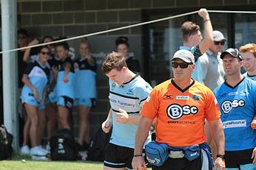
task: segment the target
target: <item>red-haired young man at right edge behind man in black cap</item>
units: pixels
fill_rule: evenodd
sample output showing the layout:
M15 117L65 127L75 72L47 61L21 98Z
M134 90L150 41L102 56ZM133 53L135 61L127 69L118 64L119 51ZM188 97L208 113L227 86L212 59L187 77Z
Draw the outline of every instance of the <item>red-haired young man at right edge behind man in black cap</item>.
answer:
M256 44L247 43L240 46L239 51L243 56L243 68L246 70L243 76L256 81Z

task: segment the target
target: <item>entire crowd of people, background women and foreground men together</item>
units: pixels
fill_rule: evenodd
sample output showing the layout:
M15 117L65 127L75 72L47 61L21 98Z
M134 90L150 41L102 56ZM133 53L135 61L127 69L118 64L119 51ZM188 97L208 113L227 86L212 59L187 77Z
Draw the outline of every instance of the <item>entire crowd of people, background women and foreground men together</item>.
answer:
M110 111L101 125L112 133L105 170L141 170L148 163L155 170L256 169L256 131L251 127L256 113L256 45L223 51L223 33L212 29L206 9L198 15L204 35L192 21L182 24L183 44L170 60L173 77L155 88L141 77L138 60L129 56L128 38L115 40L116 52L107 54L101 65L110 87ZM25 29L18 29L18 47L40 43L28 38ZM42 43L53 40L46 36ZM88 149L97 64L87 40L81 40L78 49L76 60L66 41L18 51L21 154L46 155L49 145L48 150L41 146L45 128L48 141L58 127L72 130L73 107L78 112L77 149ZM164 146L167 153L149 156L149 144L154 149ZM155 163L158 156L161 165Z

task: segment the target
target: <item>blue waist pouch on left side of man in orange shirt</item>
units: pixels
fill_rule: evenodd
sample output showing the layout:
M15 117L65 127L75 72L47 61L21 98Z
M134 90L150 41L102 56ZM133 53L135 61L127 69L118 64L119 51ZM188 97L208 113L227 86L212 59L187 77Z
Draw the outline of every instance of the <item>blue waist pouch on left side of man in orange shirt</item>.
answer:
M169 146L151 141L145 146L146 158L153 166L162 166L169 157Z

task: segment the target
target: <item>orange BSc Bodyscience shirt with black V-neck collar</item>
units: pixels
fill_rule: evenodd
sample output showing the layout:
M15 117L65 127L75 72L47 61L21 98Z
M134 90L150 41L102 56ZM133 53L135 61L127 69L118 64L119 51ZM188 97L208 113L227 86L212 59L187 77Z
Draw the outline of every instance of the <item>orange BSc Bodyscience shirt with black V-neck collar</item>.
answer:
M199 82L181 89L173 80L157 85L142 107L146 118L157 118L156 141L169 146L192 146L206 142L205 118L220 118L218 102L212 91Z

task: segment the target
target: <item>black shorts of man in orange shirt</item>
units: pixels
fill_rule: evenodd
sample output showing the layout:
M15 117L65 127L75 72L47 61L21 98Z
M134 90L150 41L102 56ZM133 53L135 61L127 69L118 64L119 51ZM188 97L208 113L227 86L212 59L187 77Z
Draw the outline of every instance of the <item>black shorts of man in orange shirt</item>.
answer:
M152 166L153 170L201 170L202 159L201 154L195 160L189 161L183 158L171 158L165 161L163 166Z

